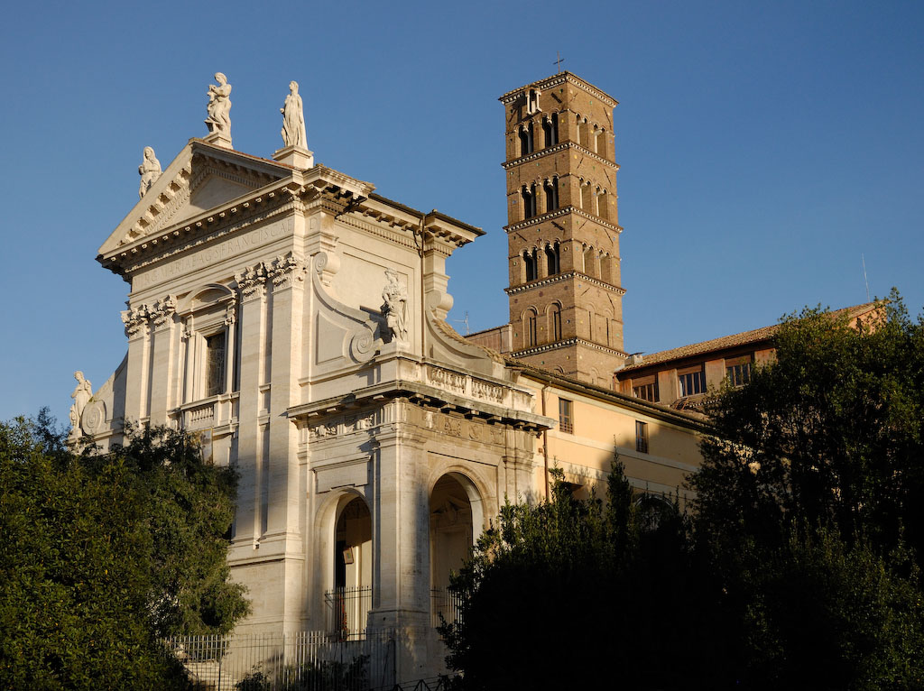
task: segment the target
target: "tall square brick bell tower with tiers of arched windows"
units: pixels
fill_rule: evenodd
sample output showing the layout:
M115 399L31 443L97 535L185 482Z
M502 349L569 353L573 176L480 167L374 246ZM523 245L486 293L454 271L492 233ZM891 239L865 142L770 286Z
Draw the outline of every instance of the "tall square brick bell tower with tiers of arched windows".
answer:
M612 388L626 359L616 101L570 72L508 91L500 101L511 354Z

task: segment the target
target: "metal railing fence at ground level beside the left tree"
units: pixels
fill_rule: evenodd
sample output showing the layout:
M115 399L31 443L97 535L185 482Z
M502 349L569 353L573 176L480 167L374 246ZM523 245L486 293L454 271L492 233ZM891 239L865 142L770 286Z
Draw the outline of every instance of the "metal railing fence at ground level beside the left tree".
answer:
M192 681L213 691L365 691L395 685L395 632L344 640L321 631L164 639Z

